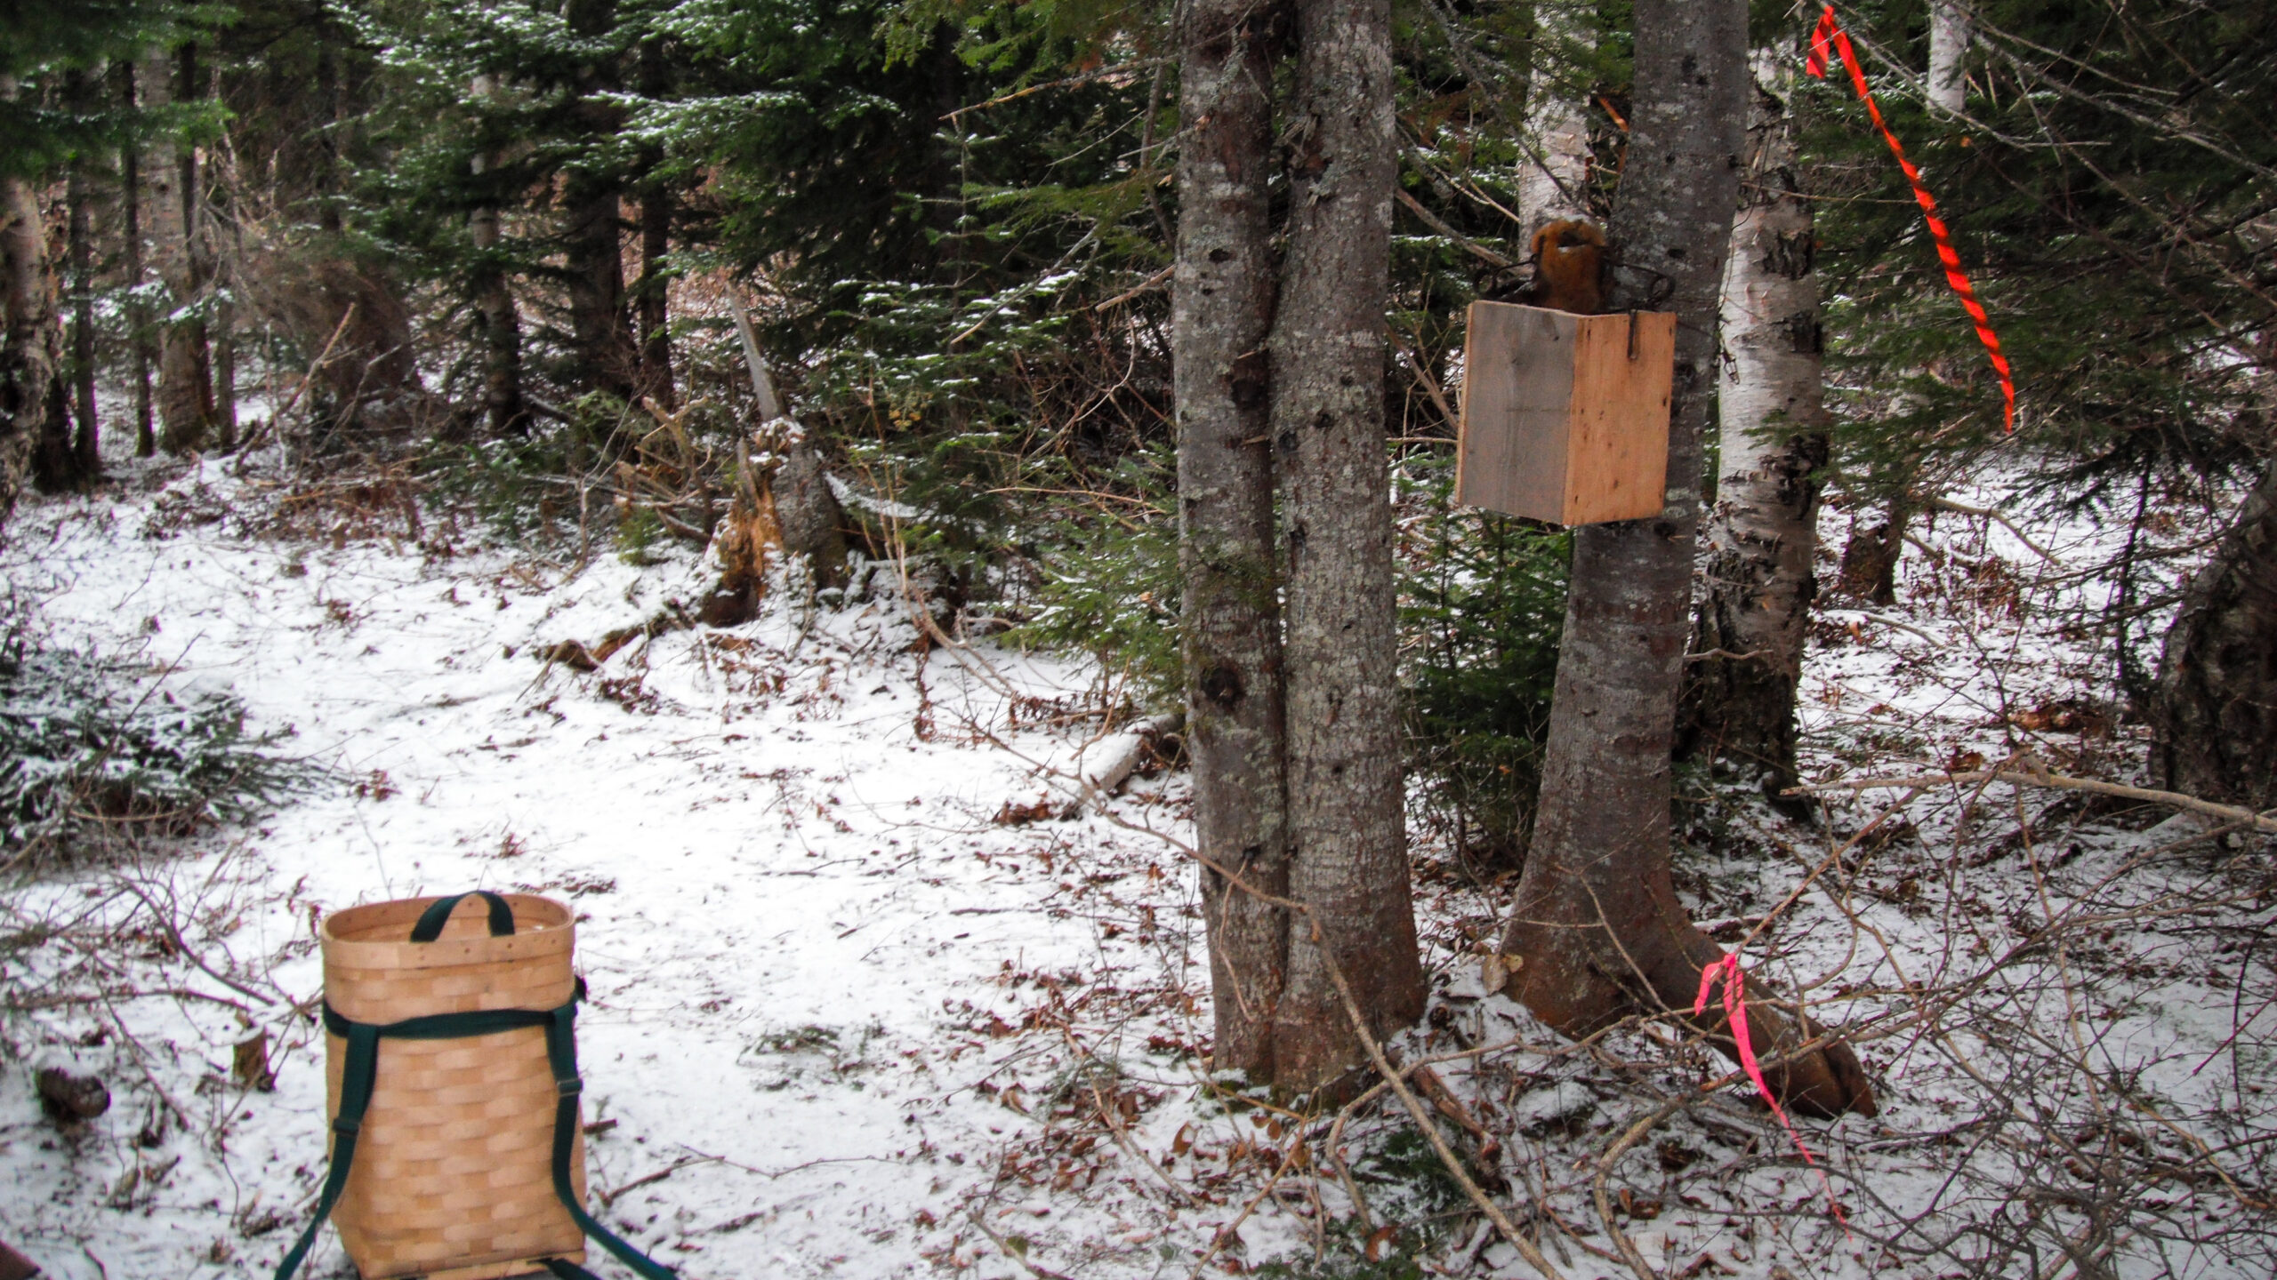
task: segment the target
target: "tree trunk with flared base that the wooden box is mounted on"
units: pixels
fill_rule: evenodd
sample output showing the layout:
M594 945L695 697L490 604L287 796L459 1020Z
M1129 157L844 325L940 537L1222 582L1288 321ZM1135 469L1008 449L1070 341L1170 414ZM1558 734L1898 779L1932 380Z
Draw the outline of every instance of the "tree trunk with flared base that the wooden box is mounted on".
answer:
M1635 107L1612 216L1612 307L1674 310L1676 383L1667 508L1573 535L1564 647L1551 704L1542 806L1503 950L1510 993L1567 1034L1626 1014L1690 1009L1721 947L1685 916L1669 877L1669 747L1692 604L1701 428L1715 317L1746 125L1744 0L1639 0ZM1751 984L1765 1057L1801 1043ZM1721 1016L1705 1020L1726 1052ZM1808 1032L1803 1027L1801 1032ZM1872 1111L1844 1045L1769 1070L1808 1114Z

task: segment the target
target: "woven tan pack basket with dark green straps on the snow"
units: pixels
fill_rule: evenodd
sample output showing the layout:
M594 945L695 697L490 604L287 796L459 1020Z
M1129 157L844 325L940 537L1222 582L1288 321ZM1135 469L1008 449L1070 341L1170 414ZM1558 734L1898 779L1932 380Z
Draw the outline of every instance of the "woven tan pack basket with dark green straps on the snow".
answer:
M412 897L321 934L332 1166L278 1280L326 1216L364 1280L585 1275L587 1234L672 1275L585 1212L567 906Z

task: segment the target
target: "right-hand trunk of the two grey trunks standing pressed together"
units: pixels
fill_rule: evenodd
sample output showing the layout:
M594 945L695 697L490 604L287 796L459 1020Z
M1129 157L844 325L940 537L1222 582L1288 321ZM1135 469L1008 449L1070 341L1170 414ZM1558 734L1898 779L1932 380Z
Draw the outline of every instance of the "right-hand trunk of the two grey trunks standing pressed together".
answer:
M1296 5L1289 228L1266 339L1287 531L1289 897L1378 1029L1423 1016L1400 793L1384 460L1396 171L1391 0ZM1289 932L1275 1082L1316 1089L1364 1050L1307 927Z

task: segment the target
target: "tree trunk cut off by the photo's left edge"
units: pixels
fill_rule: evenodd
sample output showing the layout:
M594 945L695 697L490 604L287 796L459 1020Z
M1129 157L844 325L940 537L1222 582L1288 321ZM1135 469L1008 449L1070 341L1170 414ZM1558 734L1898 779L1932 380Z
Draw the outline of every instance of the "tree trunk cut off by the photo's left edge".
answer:
M0 73L0 100L16 100L16 77ZM55 383L55 278L39 194L23 178L0 178L0 533L48 430Z

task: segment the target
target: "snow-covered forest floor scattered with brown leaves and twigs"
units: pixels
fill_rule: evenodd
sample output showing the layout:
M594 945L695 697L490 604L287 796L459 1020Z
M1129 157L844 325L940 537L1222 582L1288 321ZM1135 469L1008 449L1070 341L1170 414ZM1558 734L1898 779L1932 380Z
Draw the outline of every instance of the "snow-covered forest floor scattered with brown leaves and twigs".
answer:
M0 1234L50 1273L266 1273L321 1178L314 920L512 888L578 911L597 1212L683 1275L1530 1275L1403 1116L1330 1152L1330 1118L1211 1086L1184 781L1061 818L1057 777L1109 729L1082 663L922 645L879 567L849 608L779 588L749 626L576 672L542 656L692 599L701 569L483 549L353 478L123 469L27 503L7 581L68 645L235 688L332 781L180 856L9 888L0 963L30 998ZM2036 531L2058 567L1951 515L1924 540L1942 563L1908 556L1901 606L1822 615L1808 772L2029 747L2127 777L2109 658L2047 613L2109 538ZM1863 1027L1883 1114L1803 1125L1822 1184L1742 1089L1692 1100L1614 1162L1612 1221L1671 1275L2270 1275L2266 872L2047 793L1965 799L1847 850L1881 799L1710 822L1680 877L1728 938L1824 863L1746 961ZM123 886L173 904L187 954L75 947L139 902ZM1660 1029L1576 1052L1482 998L1498 904L1419 850L1441 1000L1405 1052L1457 1055L1439 1073L1503 1134L1498 1193L1562 1273L1628 1275L1598 1155L1728 1066ZM257 1032L273 1091L232 1080ZM43 1064L100 1075L112 1109L59 1134ZM312 1273L351 1273L330 1234Z

